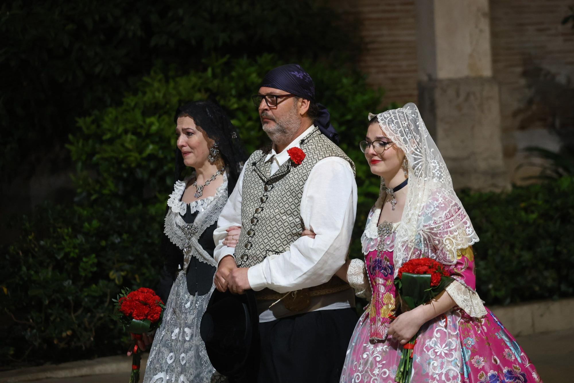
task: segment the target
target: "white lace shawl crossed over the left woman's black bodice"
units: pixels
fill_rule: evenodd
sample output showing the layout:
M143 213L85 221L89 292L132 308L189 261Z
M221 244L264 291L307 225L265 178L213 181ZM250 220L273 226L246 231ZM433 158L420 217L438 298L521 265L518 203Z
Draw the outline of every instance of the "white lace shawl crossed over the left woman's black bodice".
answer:
M192 202L192 213L199 211L193 224L185 223L186 202L180 201L185 191L185 182L177 181L168 200L168 213L164 220L164 233L169 240L184 253L184 270L187 270L191 257L217 267L215 259L197 242L201 234L214 224L227 202L227 176L223 174L223 183L218 187L215 196ZM192 206L193 205L193 206ZM195 209L195 210L194 210Z

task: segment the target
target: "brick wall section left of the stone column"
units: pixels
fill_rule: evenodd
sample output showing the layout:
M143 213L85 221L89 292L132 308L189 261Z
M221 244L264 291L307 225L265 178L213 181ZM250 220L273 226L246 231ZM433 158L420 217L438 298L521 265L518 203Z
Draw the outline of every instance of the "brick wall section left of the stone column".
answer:
M359 66L370 85L385 89L383 104L417 101L414 1L329 0L343 18L358 20L363 40Z

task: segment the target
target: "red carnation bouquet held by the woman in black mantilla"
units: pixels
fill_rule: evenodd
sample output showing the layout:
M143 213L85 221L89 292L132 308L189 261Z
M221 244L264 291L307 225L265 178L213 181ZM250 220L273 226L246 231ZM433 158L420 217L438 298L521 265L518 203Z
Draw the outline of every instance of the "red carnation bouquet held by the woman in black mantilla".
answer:
M130 383L137 383L142 359L137 341L142 339L145 332L160 327L165 305L152 289L146 288L135 291L122 289L122 293L113 301L115 308L111 317L122 324L123 330L129 331L133 338L133 344L130 346L130 349L133 349Z

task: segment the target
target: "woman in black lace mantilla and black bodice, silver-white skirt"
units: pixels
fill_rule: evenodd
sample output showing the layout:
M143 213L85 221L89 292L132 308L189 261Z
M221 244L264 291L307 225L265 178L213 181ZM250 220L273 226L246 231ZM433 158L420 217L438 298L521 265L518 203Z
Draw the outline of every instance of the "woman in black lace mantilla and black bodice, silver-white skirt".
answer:
M246 156L220 106L199 101L177 109L176 181L165 216L164 269L158 294L166 309L146 366L145 383L215 382L199 335L214 290L213 231ZM194 169L179 181L184 166Z

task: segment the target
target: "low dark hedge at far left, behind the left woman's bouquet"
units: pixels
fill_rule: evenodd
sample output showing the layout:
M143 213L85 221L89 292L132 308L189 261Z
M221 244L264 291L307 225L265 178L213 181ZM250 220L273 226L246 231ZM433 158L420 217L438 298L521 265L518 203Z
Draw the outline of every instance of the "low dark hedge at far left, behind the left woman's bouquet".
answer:
M110 201L23 217L21 236L0 252L1 365L125 351L111 299L123 285L156 285L163 212Z

